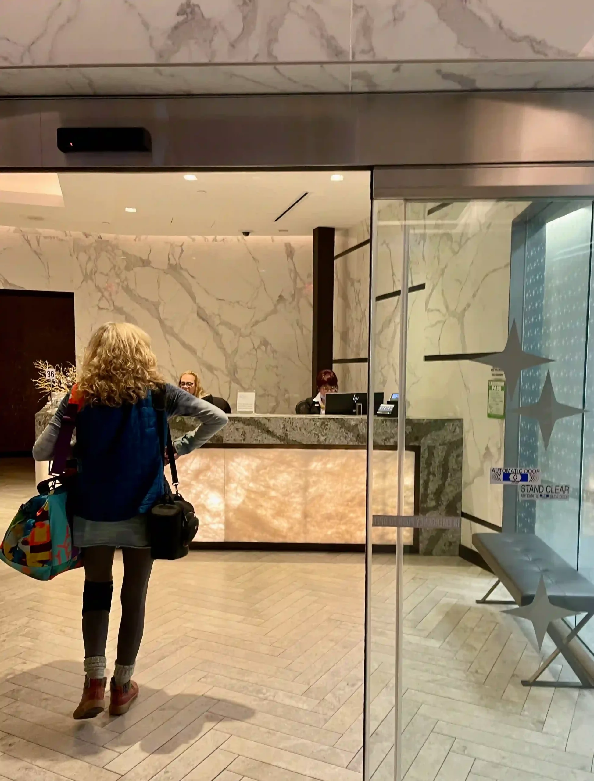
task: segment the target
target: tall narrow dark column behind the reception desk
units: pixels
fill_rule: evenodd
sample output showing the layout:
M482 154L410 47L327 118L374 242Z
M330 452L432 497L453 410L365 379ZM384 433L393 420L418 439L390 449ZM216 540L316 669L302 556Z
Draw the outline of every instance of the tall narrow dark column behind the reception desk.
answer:
M314 228L313 319L311 323L311 390L315 377L332 369L334 335L334 228Z

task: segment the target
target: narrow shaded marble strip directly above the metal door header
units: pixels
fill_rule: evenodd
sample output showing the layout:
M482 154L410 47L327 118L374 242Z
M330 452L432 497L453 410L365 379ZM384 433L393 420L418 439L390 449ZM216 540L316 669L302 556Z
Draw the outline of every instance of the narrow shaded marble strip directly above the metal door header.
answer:
M592 59L0 66L0 96L22 97L504 91L592 87Z

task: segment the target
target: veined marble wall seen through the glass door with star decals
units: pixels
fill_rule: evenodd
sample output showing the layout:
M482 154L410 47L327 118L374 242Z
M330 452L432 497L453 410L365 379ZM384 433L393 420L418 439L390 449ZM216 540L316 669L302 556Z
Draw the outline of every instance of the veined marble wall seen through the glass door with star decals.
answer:
M425 355L502 350L507 339L511 222L525 204L472 201L436 213L411 233L425 263ZM418 294L415 294L418 295ZM410 349L410 348L409 348ZM503 421L487 418L490 369L468 361L411 362L421 380L410 414L464 419L462 508L501 525L503 495L489 469L503 465ZM414 376L414 375L413 375ZM411 378L412 380L412 378ZM445 389L446 392L443 392Z

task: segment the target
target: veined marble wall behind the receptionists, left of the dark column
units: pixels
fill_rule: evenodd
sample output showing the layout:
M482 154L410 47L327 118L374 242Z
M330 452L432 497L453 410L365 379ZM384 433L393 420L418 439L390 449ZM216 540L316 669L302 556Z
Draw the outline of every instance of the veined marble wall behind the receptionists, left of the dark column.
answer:
M293 412L311 373L310 237L133 237L0 228L0 286L74 291L76 349L108 320L235 404ZM41 358L43 356L40 356Z

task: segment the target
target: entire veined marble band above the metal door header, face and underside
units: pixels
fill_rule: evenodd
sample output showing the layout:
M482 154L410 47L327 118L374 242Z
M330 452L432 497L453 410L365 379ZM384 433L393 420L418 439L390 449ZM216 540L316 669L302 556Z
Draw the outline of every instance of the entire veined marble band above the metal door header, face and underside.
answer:
M16 2L0 6L0 68L68 66L7 71L0 84L8 95L585 87L593 56L590 0L28 0L27 12ZM493 61L493 69L480 61ZM553 67L541 68L544 62ZM208 71L168 70L197 64ZM261 71L234 70L246 65ZM284 65L294 68L276 68Z

